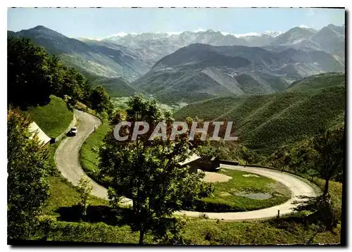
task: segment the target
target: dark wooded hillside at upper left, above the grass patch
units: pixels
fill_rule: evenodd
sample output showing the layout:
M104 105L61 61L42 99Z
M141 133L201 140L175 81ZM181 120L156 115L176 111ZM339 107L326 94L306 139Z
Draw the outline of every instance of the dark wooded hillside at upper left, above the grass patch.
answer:
M30 39L8 36L8 104L27 110L46 105L52 94L73 106L84 103L99 113L112 108L103 87L92 87L77 70Z

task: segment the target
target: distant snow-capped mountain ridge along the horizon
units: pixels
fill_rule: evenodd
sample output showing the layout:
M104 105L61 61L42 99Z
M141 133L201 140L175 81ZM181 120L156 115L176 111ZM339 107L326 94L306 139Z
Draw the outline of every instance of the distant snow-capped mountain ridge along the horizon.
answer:
M166 32L146 32L142 34L112 35L101 41L130 46L134 49L145 49L149 53L158 49L161 54L168 55L176 49L189 44L210 44L212 46L290 46L296 49L313 49L341 55L344 52L343 26L327 25L320 30L308 27L293 27L287 32L263 32L262 34L249 33L235 36L225 32L206 30L201 32L181 32L168 34ZM253 35L251 35L253 34ZM324 42L328 40L329 43ZM156 57L158 58L158 57ZM160 59L160 58L159 58Z

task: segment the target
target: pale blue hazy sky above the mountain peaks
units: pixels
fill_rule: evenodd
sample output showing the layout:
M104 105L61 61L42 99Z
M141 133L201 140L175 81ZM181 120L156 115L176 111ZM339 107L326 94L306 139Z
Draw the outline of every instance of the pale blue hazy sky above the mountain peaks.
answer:
M44 25L68 37L106 37L119 32L212 29L233 34L315 29L345 23L344 9L328 8L9 8L8 30Z

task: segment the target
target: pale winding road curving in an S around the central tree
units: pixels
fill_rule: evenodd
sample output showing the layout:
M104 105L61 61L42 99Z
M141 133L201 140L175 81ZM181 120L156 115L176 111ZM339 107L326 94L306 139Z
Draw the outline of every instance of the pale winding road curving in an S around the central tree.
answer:
M77 135L75 137L67 137L58 146L55 153L56 166L60 170L61 175L68 179L73 185L77 186L78 181L81 177L87 177L92 184L93 190L92 195L108 199L107 189L101 185L94 182L93 179L89 178L80 165L80 148L84 141L89 137L89 134L94 132L94 127L99 127L101 121L94 115L89 113L84 113L82 111L74 111L75 117L78 120L77 125ZM279 210L280 215L285 215L292 212L292 202L295 201L297 196L315 196L316 190L310 184L299 179L298 177L291 175L287 172L279 172L277 170L271 170L267 168L256 168L256 167L244 167L241 165L225 165L221 164L221 168L226 168L230 170L242 170L246 172L251 172L253 174L258 174L264 177L270 177L275 179L277 182L284 184L291 191L291 199L289 201L282 203L277 206L272 206L270 208L264 208L260 210L253 210L248 212L237 212L237 213L206 213L210 219L220 219L220 220L256 220L256 219L266 219L277 216L277 210ZM123 204L131 204L130 199L122 199ZM204 213L193 212L193 211L180 211L176 213L177 215L187 215L189 217L199 217Z

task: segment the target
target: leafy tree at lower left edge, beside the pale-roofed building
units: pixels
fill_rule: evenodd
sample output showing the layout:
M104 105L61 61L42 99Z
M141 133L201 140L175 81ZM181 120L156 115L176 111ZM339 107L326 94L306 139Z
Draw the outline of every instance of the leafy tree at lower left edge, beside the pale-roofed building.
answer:
M29 239L37 228L37 215L49 197L46 179L48 149L37 137L30 139L30 120L18 109L7 113L8 238Z

